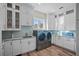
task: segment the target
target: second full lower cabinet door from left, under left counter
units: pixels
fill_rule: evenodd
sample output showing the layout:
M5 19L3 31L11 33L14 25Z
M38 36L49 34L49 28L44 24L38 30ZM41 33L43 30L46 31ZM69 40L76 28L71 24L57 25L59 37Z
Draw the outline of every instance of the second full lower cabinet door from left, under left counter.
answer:
M20 42L21 42L20 40L12 41L13 55L18 55L21 53L21 43Z

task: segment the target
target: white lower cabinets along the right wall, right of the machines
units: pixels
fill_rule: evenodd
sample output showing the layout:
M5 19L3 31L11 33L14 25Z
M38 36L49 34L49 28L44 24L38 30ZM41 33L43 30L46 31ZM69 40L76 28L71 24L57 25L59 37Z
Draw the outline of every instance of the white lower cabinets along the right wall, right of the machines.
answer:
M71 39L71 38L66 38L66 37L56 37L56 39L54 40L54 44L60 46L60 47L63 47L63 48L66 48L66 49L69 49L71 51L74 51L76 50L75 48L75 40L74 39Z

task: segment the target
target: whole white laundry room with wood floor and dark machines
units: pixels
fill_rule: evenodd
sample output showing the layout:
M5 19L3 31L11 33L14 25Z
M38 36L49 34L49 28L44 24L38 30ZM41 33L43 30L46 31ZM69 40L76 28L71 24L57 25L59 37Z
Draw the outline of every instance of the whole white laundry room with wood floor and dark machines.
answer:
M79 3L0 3L0 56L79 56Z

